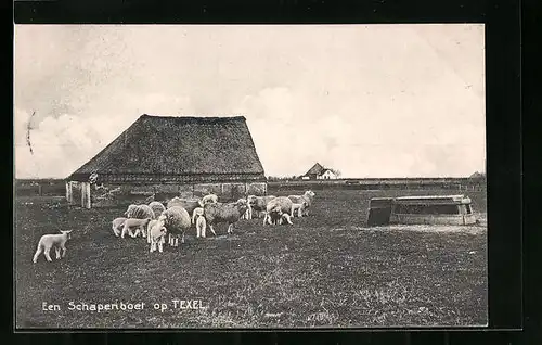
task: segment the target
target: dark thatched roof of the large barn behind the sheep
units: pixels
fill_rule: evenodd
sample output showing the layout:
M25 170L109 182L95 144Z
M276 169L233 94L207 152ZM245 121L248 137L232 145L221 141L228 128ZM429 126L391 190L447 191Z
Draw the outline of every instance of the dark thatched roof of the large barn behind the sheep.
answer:
M70 180L89 176L246 175L264 178L244 116L140 116Z

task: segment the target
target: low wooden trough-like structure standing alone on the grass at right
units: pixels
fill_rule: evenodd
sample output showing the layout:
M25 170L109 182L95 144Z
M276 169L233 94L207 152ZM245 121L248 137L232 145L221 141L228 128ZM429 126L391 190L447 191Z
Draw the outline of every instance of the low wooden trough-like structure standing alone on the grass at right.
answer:
M470 199L464 195L373 197L367 226L476 223Z

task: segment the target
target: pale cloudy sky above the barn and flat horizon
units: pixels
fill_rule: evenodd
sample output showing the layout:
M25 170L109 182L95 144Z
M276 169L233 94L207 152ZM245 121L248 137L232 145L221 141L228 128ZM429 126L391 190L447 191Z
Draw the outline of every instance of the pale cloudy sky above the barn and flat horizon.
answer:
M142 114L243 115L267 176L467 177L485 170L483 31L15 25L15 177L65 178Z

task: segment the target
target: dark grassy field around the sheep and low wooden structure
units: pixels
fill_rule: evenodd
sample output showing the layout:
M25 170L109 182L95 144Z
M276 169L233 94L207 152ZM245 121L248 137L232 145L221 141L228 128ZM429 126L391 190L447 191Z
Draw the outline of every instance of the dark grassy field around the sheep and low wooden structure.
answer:
M274 195L296 191L272 190ZM369 197L453 191L318 191L295 225L261 219L195 230L149 253L120 240L124 208L68 208L62 197L15 201L17 328L464 327L487 322L487 228L365 228ZM469 192L485 219L486 196ZM31 263L39 238L73 229L67 256ZM173 308L201 299L203 309ZM145 303L142 310L68 310L75 303ZM42 304L61 310L44 311ZM155 310L154 304L168 308Z

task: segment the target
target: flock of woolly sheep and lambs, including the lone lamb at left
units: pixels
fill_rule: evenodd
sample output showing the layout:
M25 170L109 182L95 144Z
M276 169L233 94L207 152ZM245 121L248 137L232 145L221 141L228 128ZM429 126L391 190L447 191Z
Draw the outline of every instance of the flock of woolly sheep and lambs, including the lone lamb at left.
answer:
M164 251L166 235L170 246L184 243L184 233L193 226L196 228L196 237L205 238L206 228L209 227L214 235L215 225L228 223L228 233L233 232L233 225L241 219L261 218L263 226L293 225L292 218L309 215L314 192L306 191L302 195L288 196L255 196L240 199L233 203L221 203L215 194L208 194L198 200L186 200L178 196L171 199L166 206L153 201L150 204L130 205L125 212L125 217L115 218L112 228L115 235L125 238L146 238L150 252ZM191 216L192 215L192 216ZM44 234L40 238L33 261L36 263L39 255L43 254L51 261L50 251L54 247L56 259L66 255L66 241L70 238L70 231L61 231L55 234Z

